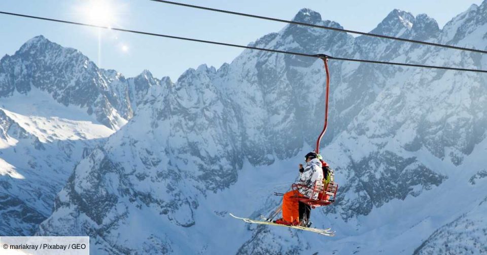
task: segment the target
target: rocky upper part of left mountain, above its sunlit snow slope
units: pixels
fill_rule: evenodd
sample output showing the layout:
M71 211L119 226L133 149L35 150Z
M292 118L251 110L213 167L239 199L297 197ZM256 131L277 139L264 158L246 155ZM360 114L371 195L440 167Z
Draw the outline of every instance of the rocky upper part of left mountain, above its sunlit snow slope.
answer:
M148 88L158 84L149 71L126 79L114 70L99 69L78 50L61 47L42 35L0 61L0 98L29 94L36 88L65 106L86 109L114 130L133 116Z

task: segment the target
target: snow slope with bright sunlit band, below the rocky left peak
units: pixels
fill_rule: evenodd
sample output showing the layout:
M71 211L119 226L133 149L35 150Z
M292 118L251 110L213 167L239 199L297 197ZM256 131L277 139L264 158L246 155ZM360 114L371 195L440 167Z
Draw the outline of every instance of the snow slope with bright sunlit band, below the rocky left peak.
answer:
M83 109L46 92L0 101L0 233L31 235L83 155L113 134Z

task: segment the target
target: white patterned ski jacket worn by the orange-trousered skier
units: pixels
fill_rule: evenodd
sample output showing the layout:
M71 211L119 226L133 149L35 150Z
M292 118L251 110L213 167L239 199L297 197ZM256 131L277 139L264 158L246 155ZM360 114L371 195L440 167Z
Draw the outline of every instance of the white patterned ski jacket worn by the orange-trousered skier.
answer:
M311 195L313 193L313 189L315 188L316 180L323 180L323 169L321 166L321 161L318 158L314 158L309 162L306 162L303 173L299 172L298 184L304 185L309 189L300 188L299 193L312 199L318 199L318 193L314 194L313 197L311 197Z

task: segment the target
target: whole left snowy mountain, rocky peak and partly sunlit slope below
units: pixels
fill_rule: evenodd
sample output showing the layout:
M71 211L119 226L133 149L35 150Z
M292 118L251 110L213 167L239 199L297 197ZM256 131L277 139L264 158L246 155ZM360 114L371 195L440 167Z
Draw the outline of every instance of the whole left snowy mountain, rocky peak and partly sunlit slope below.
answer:
M98 69L43 36L3 57L0 234L36 232L74 166L125 124L159 82L148 71L125 79Z

